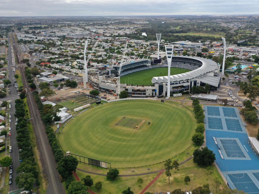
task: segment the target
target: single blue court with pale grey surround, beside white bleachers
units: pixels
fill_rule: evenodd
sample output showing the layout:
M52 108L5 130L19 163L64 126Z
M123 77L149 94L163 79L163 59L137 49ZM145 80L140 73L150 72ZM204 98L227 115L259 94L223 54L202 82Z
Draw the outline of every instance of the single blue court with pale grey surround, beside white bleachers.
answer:
M235 139L220 139L220 143L229 158L246 158L241 147Z

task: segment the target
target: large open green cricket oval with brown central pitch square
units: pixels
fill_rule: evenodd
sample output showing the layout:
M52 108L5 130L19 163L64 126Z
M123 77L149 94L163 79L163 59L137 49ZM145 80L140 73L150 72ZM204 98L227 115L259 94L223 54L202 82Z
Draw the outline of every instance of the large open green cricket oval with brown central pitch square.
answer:
M140 166L185 150L195 128L194 116L182 107L125 100L77 115L62 130L60 144L65 151L110 162L113 167Z

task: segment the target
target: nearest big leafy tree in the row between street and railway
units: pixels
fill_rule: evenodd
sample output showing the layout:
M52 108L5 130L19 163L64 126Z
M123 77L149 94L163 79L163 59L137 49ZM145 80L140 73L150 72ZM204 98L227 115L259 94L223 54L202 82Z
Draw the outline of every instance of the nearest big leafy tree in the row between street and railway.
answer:
M15 179L19 188L24 188L24 190L29 191L33 189L35 181L36 178L33 177L32 173L20 173Z

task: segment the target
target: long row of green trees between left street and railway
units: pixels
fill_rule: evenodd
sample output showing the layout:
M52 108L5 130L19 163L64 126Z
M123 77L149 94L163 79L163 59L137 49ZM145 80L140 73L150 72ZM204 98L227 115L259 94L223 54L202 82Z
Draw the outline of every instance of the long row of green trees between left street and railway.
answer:
M22 159L21 164L16 169L17 177L15 179L19 188L25 190L32 190L34 185L40 185L38 180L37 163L34 160L34 154L32 150L30 132L28 131L28 121L25 118L24 101L21 99L15 100L15 117L18 118L16 125L16 141L19 149L19 157Z

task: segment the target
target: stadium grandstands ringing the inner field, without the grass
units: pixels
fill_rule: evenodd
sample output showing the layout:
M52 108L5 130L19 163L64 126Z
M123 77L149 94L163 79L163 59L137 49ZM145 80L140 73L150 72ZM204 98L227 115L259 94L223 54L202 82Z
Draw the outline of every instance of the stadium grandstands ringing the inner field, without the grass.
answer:
M161 64L151 65L150 59L140 59L137 61L126 62L122 66L120 76L145 71L153 68L168 68L167 61ZM192 56L173 56L171 67L191 70L186 73L170 76L170 93L189 92L193 86L209 84L211 88L217 90L220 85L219 65L210 59ZM119 65L113 66L114 71L107 70L103 76L90 76L90 83L100 92L117 93L116 77L118 77ZM111 76L110 74L113 74ZM153 85L139 86L121 84L121 91L126 90L132 97L155 97L166 96L167 76L153 77Z

